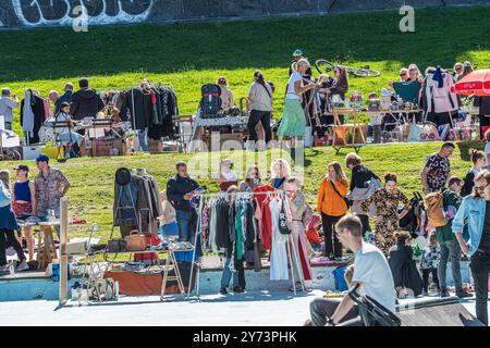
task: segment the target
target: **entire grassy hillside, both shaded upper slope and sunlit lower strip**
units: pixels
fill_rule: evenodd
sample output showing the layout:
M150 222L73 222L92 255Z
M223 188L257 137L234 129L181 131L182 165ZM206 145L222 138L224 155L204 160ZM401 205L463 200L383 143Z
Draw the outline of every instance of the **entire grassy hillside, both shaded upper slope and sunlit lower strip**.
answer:
M343 14L322 17L277 18L232 23L140 25L90 27L88 33L71 28L0 32L0 86L19 96L26 87L47 95L61 90L66 80L89 76L95 88L128 87L148 77L173 84L182 114L195 112L200 86L220 75L228 77L235 99L247 94L253 72L261 69L279 91L287 80L291 53L302 48L314 61L338 60L348 55L348 65L369 64L381 71L377 78L351 78L351 89L365 95L379 90L397 78L401 66L417 63L421 70L440 64L452 67L455 61L470 60L476 66L490 64L490 7L449 8L416 11L416 33L399 30L397 12ZM275 98L275 116L282 111L282 96ZM14 129L20 129L19 123ZM481 142L473 145L482 148ZM367 147L360 151L365 163L378 174L396 172L402 189L412 196L420 190L419 171L429 153L440 144ZM469 169L467 144L460 144L452 159L453 172L464 175ZM223 153L235 163L245 152ZM315 201L319 179L333 160L343 163L346 150L335 156L331 148L306 150L305 189ZM147 167L163 189L174 173L177 160L209 164L216 154L161 154L112 159L77 159L54 164L72 182L69 192L71 215L100 225L107 238L112 221L113 174L120 166ZM267 158L261 158L267 156ZM277 153L257 154L255 161L268 167ZM34 166L34 163L27 163ZM13 163L2 162L1 169ZM244 165L246 166L246 165ZM213 173L216 166L208 165ZM199 178L209 190L216 184ZM89 226L73 226L71 235L86 235Z

